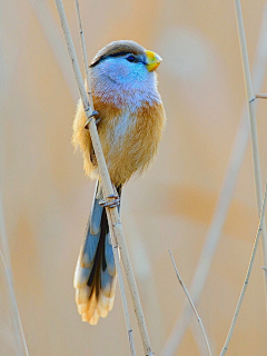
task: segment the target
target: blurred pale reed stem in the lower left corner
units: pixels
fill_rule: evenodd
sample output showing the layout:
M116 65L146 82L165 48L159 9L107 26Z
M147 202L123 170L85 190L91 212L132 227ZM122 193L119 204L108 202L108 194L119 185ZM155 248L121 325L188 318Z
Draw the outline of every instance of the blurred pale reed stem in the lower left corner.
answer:
M2 207L2 197L0 191L0 247L2 245L2 250L0 250L0 260L3 264L3 270L6 271L8 289L11 299L11 314L12 323L14 328L14 337L17 344L17 352L19 356L29 356L26 337L23 333L23 327L20 319L19 308L17 305L14 289L13 289L13 278L12 278L12 268L9 254L8 236L6 230L4 217L3 217L3 207Z

